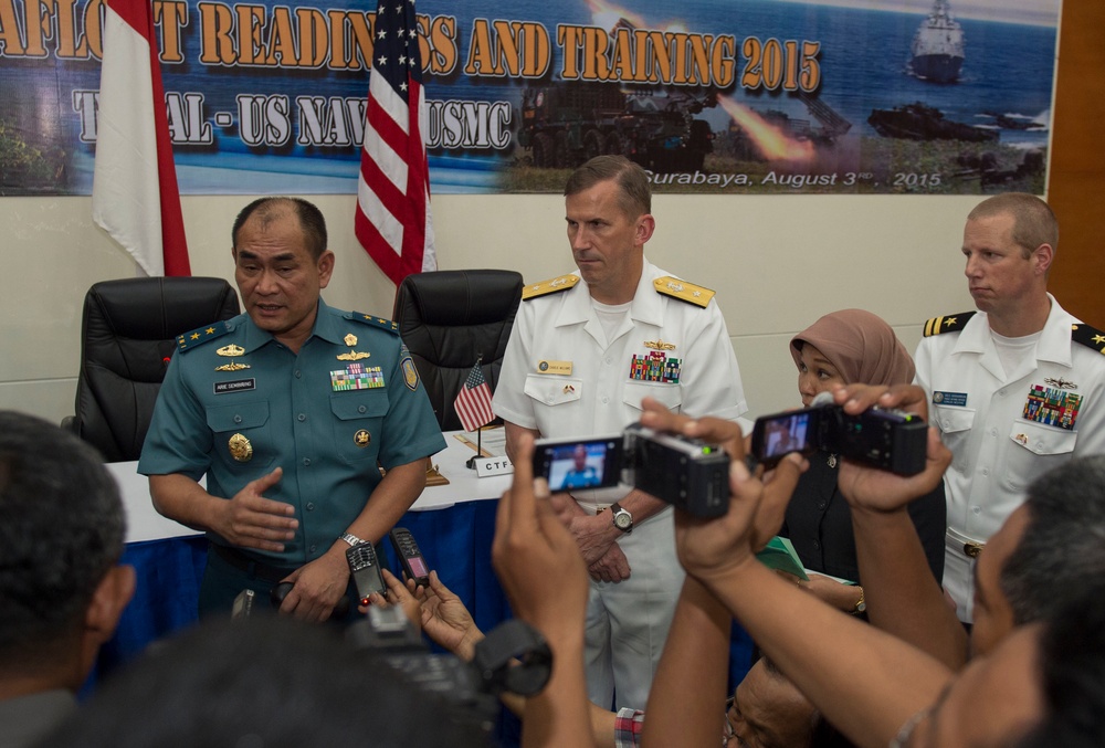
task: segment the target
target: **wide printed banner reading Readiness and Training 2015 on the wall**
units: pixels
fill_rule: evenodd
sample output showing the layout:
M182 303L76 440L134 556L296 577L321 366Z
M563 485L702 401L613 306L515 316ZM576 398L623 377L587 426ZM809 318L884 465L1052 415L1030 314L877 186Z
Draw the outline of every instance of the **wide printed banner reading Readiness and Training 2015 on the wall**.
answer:
M325 1L325 0L324 0ZM376 15L152 0L185 194L354 193ZM431 191L1042 193L1060 0L421 0ZM0 194L87 194L102 0L0 0Z

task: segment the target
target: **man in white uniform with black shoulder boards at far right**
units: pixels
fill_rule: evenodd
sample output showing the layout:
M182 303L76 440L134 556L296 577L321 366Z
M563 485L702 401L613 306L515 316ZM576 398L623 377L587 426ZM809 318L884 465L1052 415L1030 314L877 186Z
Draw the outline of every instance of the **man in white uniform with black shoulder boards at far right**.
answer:
M945 474L944 583L974 620L974 566L1033 478L1105 452L1105 336L1048 293L1059 225L1031 194L979 203L962 252L978 312L929 319L917 383L955 460Z

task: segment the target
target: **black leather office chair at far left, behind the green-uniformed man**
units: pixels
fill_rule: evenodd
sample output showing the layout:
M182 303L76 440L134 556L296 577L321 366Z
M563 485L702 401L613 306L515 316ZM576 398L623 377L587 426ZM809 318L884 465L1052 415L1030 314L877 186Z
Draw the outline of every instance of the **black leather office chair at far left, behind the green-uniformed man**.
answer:
M62 425L106 462L137 460L176 337L239 313L222 278L102 281L84 298L76 414Z

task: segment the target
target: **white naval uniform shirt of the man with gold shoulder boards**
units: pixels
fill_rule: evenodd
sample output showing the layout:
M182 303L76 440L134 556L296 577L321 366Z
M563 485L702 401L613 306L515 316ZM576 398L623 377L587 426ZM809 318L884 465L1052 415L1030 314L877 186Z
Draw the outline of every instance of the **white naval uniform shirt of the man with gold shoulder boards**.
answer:
M674 412L736 420L746 410L740 371L725 319L711 299L703 308L656 292L667 275L644 263L632 306L609 343L591 306L587 282L569 291L523 302L503 359L494 410L544 438L617 434L641 418L652 397ZM653 352L646 343L673 344L662 351L681 359L678 383L630 378L633 356ZM571 373L541 373L540 361L567 361ZM573 491L585 507L604 506L629 489Z

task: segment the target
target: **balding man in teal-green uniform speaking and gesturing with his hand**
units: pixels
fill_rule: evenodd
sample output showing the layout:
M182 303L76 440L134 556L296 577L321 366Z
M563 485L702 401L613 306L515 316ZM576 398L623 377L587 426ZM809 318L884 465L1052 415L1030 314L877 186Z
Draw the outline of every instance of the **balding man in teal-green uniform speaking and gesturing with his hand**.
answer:
M314 204L256 200L232 238L245 314L180 336L138 471L159 513L208 534L201 613L290 581L281 611L325 620L346 549L402 517L445 444L394 323L322 301Z

